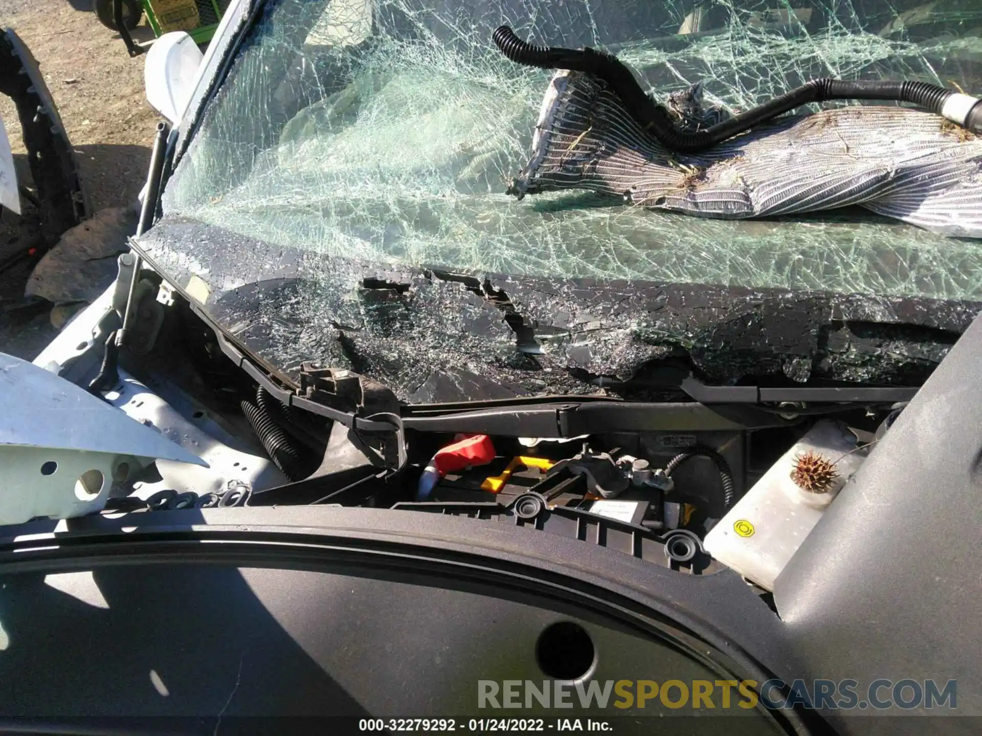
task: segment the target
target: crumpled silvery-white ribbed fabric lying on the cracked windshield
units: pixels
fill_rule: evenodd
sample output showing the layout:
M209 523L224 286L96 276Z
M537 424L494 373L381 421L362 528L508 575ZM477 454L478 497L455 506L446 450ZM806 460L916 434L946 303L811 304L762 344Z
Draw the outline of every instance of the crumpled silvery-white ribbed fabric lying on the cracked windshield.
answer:
M606 83L550 82L519 197L589 189L629 204L718 219L861 205L953 237L982 237L982 139L943 118L867 106L779 118L697 155L635 122Z

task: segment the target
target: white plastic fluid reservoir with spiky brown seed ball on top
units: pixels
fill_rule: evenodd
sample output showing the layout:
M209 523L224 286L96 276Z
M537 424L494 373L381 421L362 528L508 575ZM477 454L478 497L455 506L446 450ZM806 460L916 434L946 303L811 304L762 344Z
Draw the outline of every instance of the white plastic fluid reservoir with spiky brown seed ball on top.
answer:
M845 424L817 422L710 530L706 552L773 591L775 579L862 464L865 452L856 450L856 437ZM834 477L828 473L830 463L835 463ZM799 483L810 483L814 490Z

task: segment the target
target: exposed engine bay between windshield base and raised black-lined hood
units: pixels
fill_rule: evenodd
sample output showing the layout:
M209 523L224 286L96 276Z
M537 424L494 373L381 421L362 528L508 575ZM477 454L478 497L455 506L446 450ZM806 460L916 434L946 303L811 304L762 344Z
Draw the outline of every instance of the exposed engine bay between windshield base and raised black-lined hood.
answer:
M549 426L535 417L551 404L411 407L401 415L384 387L315 364L302 367L300 387L284 391L157 281L143 284L142 323L152 329L136 349L112 348L109 310L94 327L70 326L65 340L90 330L91 344L110 348L88 355L87 368L82 350L59 372L207 467L130 463L103 489L94 508L103 513L329 504L467 517L686 575L733 568L766 599L904 405L786 401L765 407L765 421L741 423L722 404L595 401L579 411L598 411L565 422L579 428L573 432L564 431L562 411L576 405L556 404L556 431L524 437L518 428ZM357 418L307 410L320 406L310 399L355 406ZM665 416L638 422L599 411L612 405Z

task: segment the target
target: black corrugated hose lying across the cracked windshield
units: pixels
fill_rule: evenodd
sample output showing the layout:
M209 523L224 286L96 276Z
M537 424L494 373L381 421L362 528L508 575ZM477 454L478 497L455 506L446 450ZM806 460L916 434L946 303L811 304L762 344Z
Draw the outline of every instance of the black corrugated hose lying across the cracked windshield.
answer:
M810 102L826 100L892 100L909 102L930 112L944 115L957 125L982 133L982 102L954 89L923 81L880 81L812 79L780 97L702 131L680 130L672 115L649 97L627 66L616 56L592 48L582 50L533 46L518 38L509 26L500 26L492 39L508 59L526 67L567 69L586 72L603 79L621 98L631 116L666 147L683 153L710 148L749 131L779 115ZM945 110L945 103L958 95L957 104Z

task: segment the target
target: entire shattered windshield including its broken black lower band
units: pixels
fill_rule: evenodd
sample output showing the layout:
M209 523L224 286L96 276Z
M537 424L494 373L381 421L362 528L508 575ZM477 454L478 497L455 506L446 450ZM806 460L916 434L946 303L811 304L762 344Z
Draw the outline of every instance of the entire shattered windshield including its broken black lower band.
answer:
M268 0L144 254L283 380L318 361L410 404L684 400L677 369L916 386L977 314L982 240L858 207L714 220L508 194L555 73L502 56L503 24L616 53L672 104L701 82L706 116L819 77L982 91L976 0ZM936 124L927 144L955 139L977 166L982 140ZM689 176L669 158L651 163Z

